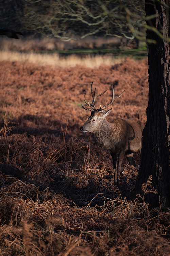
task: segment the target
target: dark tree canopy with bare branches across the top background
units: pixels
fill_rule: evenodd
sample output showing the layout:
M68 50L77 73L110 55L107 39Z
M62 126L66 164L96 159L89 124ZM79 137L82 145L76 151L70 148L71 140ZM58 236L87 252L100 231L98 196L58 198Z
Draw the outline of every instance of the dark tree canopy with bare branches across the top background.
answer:
M166 2L166 1L165 1ZM145 0L0 0L1 27L32 31L63 41L79 40L90 35L117 36L146 41L146 29L160 38L152 21L159 16L145 14ZM168 9L168 4L151 0ZM154 7L155 8L155 7ZM146 23L147 22L147 23ZM148 43L156 43L147 38Z

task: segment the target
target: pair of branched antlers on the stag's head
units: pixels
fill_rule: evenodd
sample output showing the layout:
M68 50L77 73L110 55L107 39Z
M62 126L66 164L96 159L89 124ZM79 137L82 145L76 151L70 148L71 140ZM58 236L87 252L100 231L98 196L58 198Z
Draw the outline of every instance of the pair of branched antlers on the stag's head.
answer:
M84 101L85 101L86 105L89 106L90 108L92 108L92 110L94 110L94 111L102 111L102 110L108 108L109 106L112 105L112 103L115 101L115 99L119 98L119 97L124 93L124 91L125 91L125 90L124 90L121 94L119 94L118 96L116 96L116 95L115 95L115 89L114 89L114 86L113 86L113 84L112 84L112 100L111 100L111 102L110 102L107 106L101 107L101 105L100 105L100 108L97 109L97 108L95 107L95 100L96 100L96 98L99 97L99 96L101 96L101 95L103 95L107 90L98 95L98 94L96 94L96 88L95 88L95 93L92 92L92 84L93 84L93 82L91 83L91 95L92 95L92 98L93 98L92 103L90 104L89 102L88 102L88 103L86 102L86 100L85 100L85 95L84 95ZM88 108L83 107L83 104L82 104L82 108L91 111L91 109L88 109Z

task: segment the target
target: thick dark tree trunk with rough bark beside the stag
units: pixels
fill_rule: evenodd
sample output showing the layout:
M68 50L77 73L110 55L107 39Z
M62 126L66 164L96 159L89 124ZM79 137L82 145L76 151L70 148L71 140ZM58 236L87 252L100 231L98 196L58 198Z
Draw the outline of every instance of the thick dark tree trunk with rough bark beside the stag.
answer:
M162 3L169 5L169 0ZM153 1L146 0L146 15L155 14L155 9L159 17L148 24L152 22L158 31L164 31L164 37L169 37L169 9L160 2L153 5ZM151 207L160 206L163 210L170 206L170 45L149 30L147 38L156 40L156 44L148 44L147 123L134 195L140 194Z

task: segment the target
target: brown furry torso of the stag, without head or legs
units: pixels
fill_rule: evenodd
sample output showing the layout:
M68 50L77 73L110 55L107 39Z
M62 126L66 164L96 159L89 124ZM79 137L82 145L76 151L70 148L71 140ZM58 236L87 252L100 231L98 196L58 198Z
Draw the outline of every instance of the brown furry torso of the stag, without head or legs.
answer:
M106 119L100 123L96 133L97 140L115 154L137 152L141 150L143 124L138 120L117 118L109 123Z

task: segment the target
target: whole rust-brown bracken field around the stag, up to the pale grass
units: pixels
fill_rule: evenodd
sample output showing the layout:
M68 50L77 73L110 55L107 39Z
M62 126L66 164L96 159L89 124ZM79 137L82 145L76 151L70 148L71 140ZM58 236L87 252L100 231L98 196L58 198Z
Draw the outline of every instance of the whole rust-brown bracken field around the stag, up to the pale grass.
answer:
M146 122L147 61L39 66L0 62L0 255L169 255L170 214L130 201L124 158L120 189L112 160L94 135L82 134L90 84L125 93L108 116ZM137 166L140 156L134 156Z

